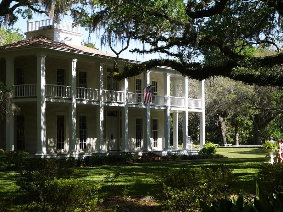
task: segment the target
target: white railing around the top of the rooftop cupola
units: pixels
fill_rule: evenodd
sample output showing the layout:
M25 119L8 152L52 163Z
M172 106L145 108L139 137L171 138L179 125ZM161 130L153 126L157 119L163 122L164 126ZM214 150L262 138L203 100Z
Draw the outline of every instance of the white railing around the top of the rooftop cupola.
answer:
M60 20L60 23L55 23L53 19L46 19L41 21L28 22L27 31L45 30L57 28L61 30L67 30L71 32L80 33L80 26L73 27L73 22Z

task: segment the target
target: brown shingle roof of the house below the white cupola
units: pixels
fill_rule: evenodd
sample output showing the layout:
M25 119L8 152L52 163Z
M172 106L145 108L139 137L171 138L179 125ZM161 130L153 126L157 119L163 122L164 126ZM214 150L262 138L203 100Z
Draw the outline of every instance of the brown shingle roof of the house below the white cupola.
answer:
M105 52L101 52L99 50L92 49L87 46L76 46L76 45L67 45L65 43L59 43L59 42L50 40L49 38L44 37L42 35L36 35L34 37L24 39L24 40L15 42L15 43L0 46L0 50L10 49L10 48L28 47L28 46L47 46L47 47L62 48L62 49L67 49L67 50L72 50L72 51L99 54L99 55L104 55L108 57L115 57L114 55L111 55Z

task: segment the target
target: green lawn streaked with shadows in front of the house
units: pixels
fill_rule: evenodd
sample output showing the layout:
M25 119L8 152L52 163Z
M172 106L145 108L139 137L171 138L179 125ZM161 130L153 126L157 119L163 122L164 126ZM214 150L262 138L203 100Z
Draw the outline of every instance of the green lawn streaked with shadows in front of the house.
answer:
M191 160L163 163L145 163L112 165L98 167L75 168L74 177L90 184L103 180L107 173L120 172L116 193L120 195L126 188L129 196L141 197L152 193L153 178L158 176L160 171L186 167L203 167L211 164L227 164L234 169L234 174L238 177L232 188L235 193L255 193L255 177L263 166L264 151L260 148L218 148L217 153L228 156L227 159ZM0 172L0 198L11 197L15 194L15 173L12 171ZM113 195L112 185L103 185L100 196Z

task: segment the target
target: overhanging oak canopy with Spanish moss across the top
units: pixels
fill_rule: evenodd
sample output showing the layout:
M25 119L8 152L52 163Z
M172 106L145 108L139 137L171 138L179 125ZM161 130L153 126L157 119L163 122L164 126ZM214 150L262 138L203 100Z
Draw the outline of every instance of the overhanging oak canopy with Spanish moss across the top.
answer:
M12 4L12 2L15 2ZM24 8L23 8L24 7ZM156 66L169 66L193 79L224 76L247 84L279 85L283 81L282 0L37 0L2 1L0 17L8 24L17 14L31 11L54 16L70 11L77 24L90 32L105 30L110 44L121 50L130 39L149 44L130 52L161 52L170 59L114 67L117 79L132 77ZM243 54L247 46L269 48L269 56ZM117 63L115 63L116 65Z

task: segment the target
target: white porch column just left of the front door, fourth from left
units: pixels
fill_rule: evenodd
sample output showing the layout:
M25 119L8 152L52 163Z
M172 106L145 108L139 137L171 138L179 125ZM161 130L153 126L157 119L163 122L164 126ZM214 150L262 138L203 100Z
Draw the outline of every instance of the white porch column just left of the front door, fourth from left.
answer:
M106 146L104 144L104 135L103 135L103 123L104 123L104 96L103 96L103 67L104 64L99 64L99 91L98 91L98 101L99 105L97 106L97 143L96 143L96 149L99 152L104 152L106 150Z

